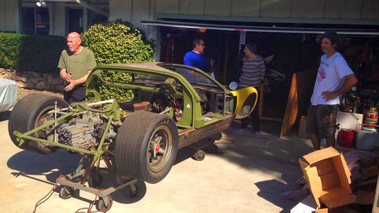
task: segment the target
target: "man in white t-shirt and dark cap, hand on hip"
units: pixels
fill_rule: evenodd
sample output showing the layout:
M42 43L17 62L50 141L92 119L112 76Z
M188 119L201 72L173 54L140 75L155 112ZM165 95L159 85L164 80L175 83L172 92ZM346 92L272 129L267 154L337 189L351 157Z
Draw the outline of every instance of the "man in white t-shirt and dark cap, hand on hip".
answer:
M308 109L307 127L313 148L321 149L320 138L326 138L326 145L335 146L335 124L337 109L342 94L349 91L358 81L345 58L337 52L339 36L334 31L323 34L321 56L315 88Z

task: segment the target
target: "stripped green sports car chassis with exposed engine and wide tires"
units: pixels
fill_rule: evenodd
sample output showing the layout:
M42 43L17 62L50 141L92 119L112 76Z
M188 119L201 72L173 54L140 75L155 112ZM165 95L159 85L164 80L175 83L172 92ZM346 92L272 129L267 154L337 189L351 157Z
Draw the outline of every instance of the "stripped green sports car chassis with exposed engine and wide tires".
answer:
M127 73L131 80L117 82L102 75L109 71ZM102 100L102 86L130 89L133 99ZM63 148L91 157L86 169L81 171L81 163L71 174L83 175L79 185L99 168L100 160L107 160L108 168L128 180L120 184L135 192L136 179L163 180L178 149L206 141L230 127L233 119L252 112L257 91L242 85L232 89L202 70L180 64L97 66L86 81L83 102L68 105L61 98L43 94L19 100L9 117L9 135L24 150L49 154ZM194 155L197 160L204 158L199 150ZM61 182L61 197L77 187L67 181ZM111 200L107 194L102 197L103 205L108 206Z

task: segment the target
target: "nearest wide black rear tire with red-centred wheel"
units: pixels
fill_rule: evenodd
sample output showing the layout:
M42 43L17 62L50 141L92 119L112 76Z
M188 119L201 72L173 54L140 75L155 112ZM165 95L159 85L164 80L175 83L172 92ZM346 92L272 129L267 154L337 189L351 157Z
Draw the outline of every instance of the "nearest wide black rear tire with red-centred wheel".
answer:
M114 154L116 168L125 176L158 183L174 164L178 140L178 130L171 117L136 111L126 117L118 130ZM155 153L157 147L164 153Z

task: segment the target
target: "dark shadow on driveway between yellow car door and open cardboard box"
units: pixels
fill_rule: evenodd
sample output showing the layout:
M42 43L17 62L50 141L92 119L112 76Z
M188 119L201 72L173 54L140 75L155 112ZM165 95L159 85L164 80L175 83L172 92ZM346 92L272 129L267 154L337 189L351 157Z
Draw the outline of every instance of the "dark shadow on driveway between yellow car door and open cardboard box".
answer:
M239 128L238 121L232 126ZM312 145L304 143L297 137L279 139L278 135L272 134L275 131L272 126L266 127L270 128L268 131L263 127L261 138L255 138L249 130L238 134L235 132L236 128L229 128L223 132L234 143L220 145L221 151L225 154L219 156L240 165L241 168L254 173L258 171L260 175L268 174L265 176L271 177L279 175L276 179L258 181L254 185L260 190L258 196L282 208L281 212L289 212L297 202L281 197L280 193L294 190L294 183L303 175L298 159L312 152Z

